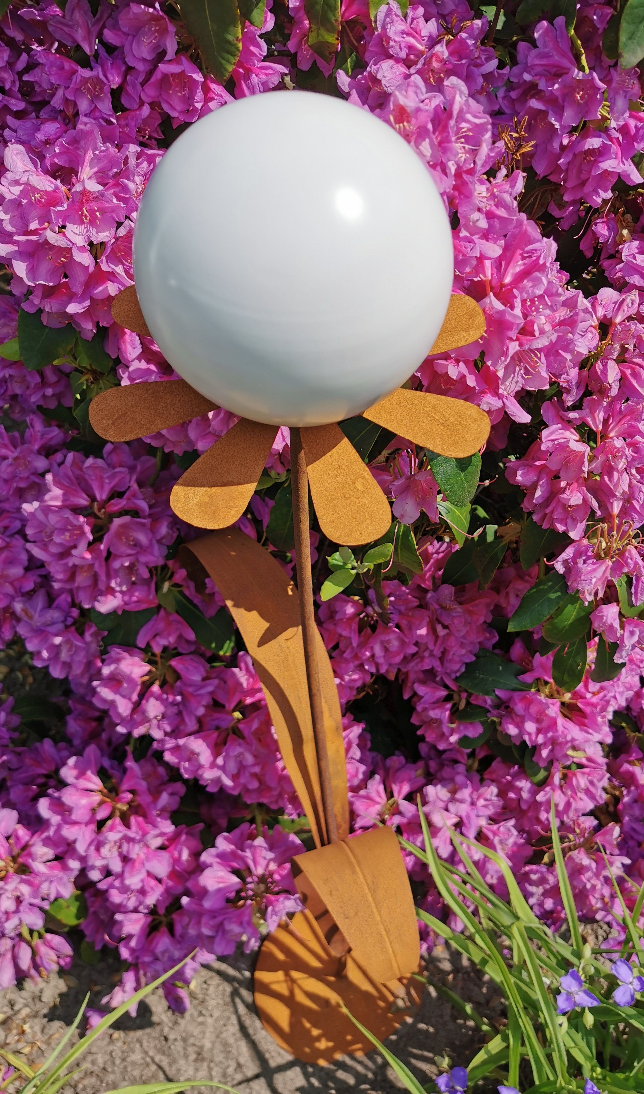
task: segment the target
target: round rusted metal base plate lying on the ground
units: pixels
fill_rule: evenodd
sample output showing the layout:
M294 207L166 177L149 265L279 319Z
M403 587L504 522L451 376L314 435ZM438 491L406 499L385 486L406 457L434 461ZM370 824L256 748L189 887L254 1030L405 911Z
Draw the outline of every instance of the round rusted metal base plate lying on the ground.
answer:
M421 1005L421 982L404 977L400 984L411 1004L404 1010L393 991L373 980L350 953L335 957L313 917L299 911L291 927L279 927L260 950L255 1006L281 1048L298 1060L325 1064L344 1054L364 1056L373 1048L341 1009L341 1000L384 1040Z

